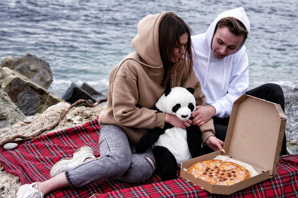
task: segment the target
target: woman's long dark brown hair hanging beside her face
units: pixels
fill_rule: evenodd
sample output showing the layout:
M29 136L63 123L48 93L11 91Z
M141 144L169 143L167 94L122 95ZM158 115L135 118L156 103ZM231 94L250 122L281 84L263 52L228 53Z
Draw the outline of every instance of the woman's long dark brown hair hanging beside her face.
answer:
M188 65L188 76L191 75L193 61L191 50L190 27L180 17L168 14L164 16L159 24L159 52L161 56L162 65L164 68L164 75L161 81L162 87L170 87L171 70L176 63L171 60L175 59L174 48L180 45L180 36L184 33L188 34L188 41L185 49L185 57L181 58L183 66ZM189 64L186 64L186 61Z

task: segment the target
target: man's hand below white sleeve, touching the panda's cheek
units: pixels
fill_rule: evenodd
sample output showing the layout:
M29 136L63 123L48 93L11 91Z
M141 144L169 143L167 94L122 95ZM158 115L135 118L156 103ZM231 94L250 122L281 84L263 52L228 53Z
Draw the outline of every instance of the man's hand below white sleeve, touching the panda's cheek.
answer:
M191 114L192 125L202 126L216 114L215 108L210 106L198 106L197 110Z

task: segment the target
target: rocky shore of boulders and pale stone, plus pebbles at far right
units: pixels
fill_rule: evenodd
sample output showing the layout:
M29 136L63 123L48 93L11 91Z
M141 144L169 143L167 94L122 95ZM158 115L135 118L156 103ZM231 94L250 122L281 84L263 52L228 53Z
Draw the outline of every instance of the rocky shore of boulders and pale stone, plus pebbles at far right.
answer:
M72 84L65 97L60 99L47 91L53 78L43 77L52 75L46 62L30 54L26 54L22 58L4 60L0 64L0 142L16 134L28 136L52 126L68 109L70 103L77 99L94 102L105 98L104 95L97 93L86 84L81 87ZM29 64L28 61L31 63ZM40 67L30 67L32 64L42 64L46 69L40 71ZM30 74L32 68L37 71L34 73L40 74L39 78ZM19 74L19 72L24 74ZM15 86L12 86L13 83ZM22 86L22 88L17 86ZM31 100L26 106L23 99L28 99L28 97L35 98L35 100ZM298 141L298 92L286 93L285 101L287 140L289 142ZM103 105L104 103L95 107L76 106L68 112L54 130L46 131L43 134L89 122L98 117ZM0 198L13 198L20 185L17 176L7 173L0 166Z

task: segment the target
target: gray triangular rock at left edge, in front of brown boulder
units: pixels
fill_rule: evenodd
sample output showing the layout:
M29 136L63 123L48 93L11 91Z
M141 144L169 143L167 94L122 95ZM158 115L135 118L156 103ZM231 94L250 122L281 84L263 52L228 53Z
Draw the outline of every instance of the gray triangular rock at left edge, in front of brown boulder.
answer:
M22 111L11 101L5 92L0 90L0 129L10 127L24 119L25 115Z

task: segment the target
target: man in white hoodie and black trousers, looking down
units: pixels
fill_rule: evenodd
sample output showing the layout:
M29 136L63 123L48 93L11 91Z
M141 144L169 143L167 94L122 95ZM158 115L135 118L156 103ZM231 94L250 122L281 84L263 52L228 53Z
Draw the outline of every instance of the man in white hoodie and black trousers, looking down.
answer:
M278 103L285 111L284 93L279 85L269 83L246 91L248 57L244 43L249 31L247 15L243 7L238 7L221 13L205 33L192 37L194 70L202 83L207 104L197 107L192 114L192 124L201 126L213 118L215 136L219 140L213 137L205 142L213 150L222 145L233 102L242 94ZM212 151L205 148L206 152ZM286 134L281 154L287 154Z

